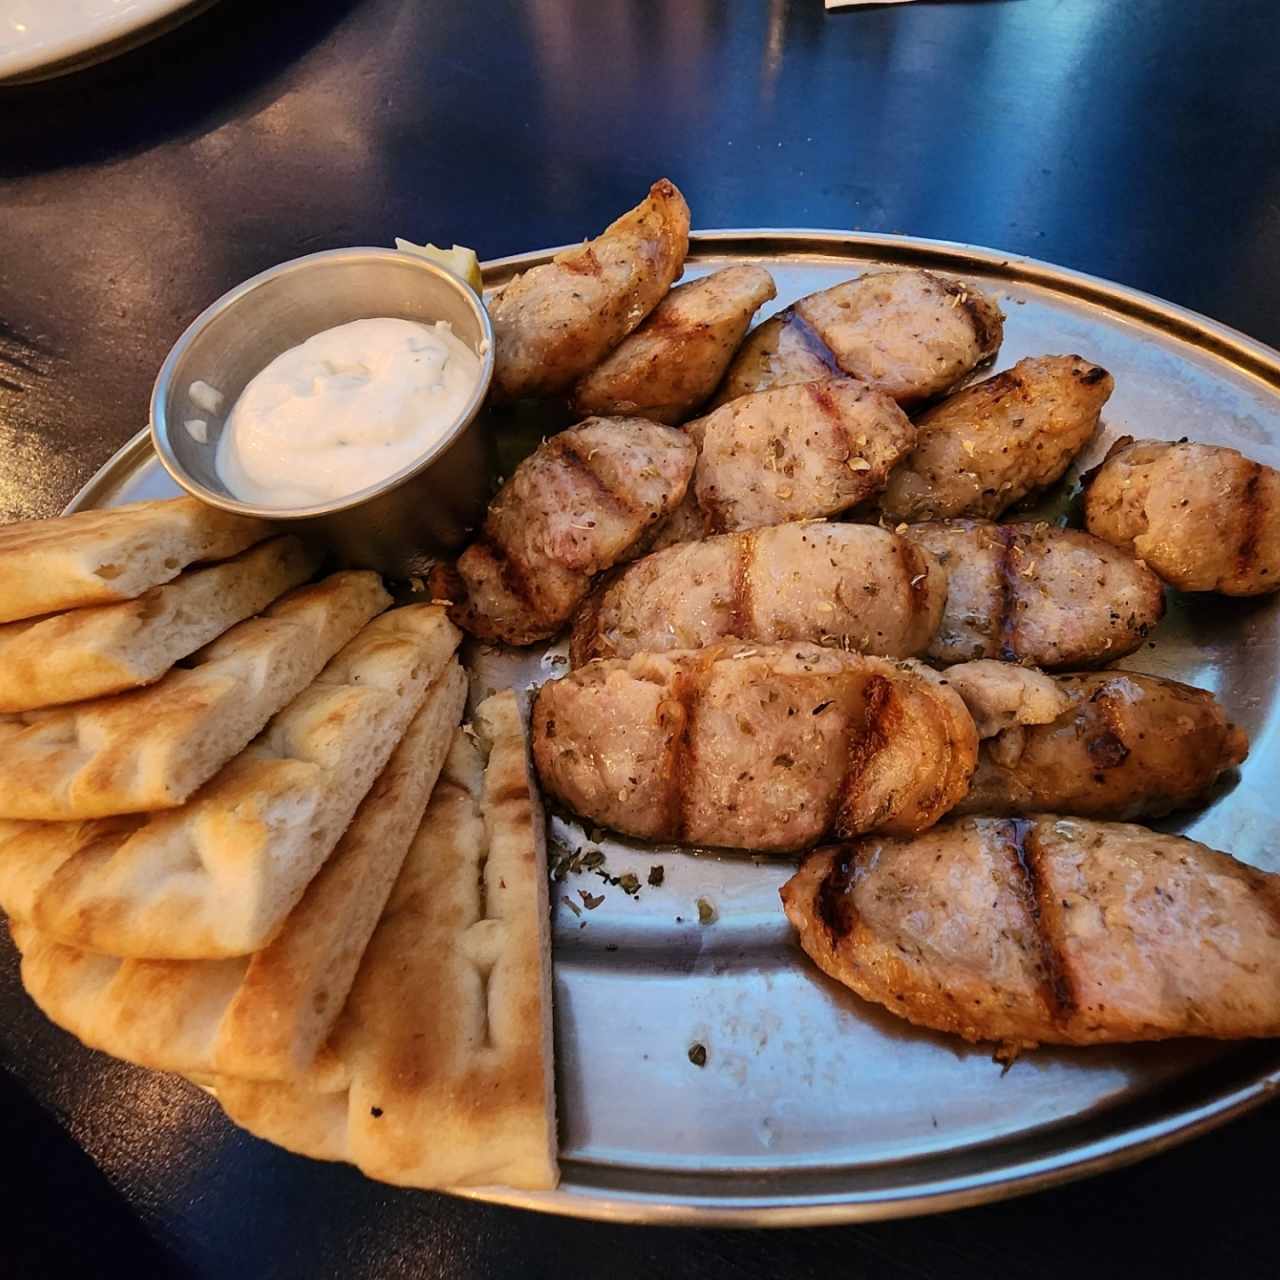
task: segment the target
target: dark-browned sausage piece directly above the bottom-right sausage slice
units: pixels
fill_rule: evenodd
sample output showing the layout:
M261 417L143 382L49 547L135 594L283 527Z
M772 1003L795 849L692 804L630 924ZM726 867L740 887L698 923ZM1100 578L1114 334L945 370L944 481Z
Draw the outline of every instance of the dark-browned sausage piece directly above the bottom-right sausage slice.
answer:
M1161 818L1204 795L1249 753L1249 740L1203 689L1133 671L1059 676L1066 704L1047 716L1024 699L1030 717L982 733L989 699L974 691L972 668L1002 667L1009 680L1046 677L1009 663L951 667L947 681L983 736L973 783L952 813L1069 813L1082 818ZM995 726L992 726L995 727Z

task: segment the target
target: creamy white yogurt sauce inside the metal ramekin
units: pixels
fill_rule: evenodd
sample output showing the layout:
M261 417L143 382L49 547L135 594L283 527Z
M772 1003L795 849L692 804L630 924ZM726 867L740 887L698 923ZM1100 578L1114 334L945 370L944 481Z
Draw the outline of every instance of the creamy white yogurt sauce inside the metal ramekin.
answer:
M262 507L358 493L457 422L480 360L444 320L353 320L275 357L241 393L218 443L223 484Z

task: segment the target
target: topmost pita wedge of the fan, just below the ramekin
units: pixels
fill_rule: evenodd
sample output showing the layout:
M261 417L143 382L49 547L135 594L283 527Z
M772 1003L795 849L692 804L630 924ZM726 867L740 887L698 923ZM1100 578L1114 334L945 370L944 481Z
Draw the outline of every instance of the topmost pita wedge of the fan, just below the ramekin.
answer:
M195 498L133 502L0 529L0 622L132 600L188 564L238 556L271 534Z

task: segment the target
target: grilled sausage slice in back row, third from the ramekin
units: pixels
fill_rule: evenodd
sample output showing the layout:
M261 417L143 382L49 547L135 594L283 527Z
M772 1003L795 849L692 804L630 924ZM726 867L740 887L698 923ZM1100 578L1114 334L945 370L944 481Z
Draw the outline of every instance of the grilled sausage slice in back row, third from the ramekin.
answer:
M868 271L765 320L730 365L714 403L849 375L900 404L919 404L991 360L1004 323L1000 307L972 284L914 268Z

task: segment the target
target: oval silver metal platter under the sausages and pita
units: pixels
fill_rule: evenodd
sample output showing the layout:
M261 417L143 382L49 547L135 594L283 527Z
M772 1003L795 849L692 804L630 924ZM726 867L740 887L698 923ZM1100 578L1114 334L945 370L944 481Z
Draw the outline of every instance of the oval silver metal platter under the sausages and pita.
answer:
M554 252L489 262L486 287ZM979 283L1007 315L997 369L1079 352L1115 374L1083 466L1124 434L1189 435L1280 466L1280 355L1133 289L988 250L832 232L696 234L686 279L739 261L774 275L763 314L873 264ZM540 434L527 421L500 430L507 466ZM69 509L173 492L143 433ZM556 649L474 646L468 660L477 694L564 669ZM1161 826L1280 872L1280 596L1175 598L1125 664L1213 690L1253 744L1215 804ZM552 893L563 1181L477 1198L686 1225L920 1213L1137 1160L1280 1088L1280 1042L1042 1050L1002 1073L988 1051L916 1030L817 973L778 904L790 861L643 846L562 818L552 838L603 855Z

